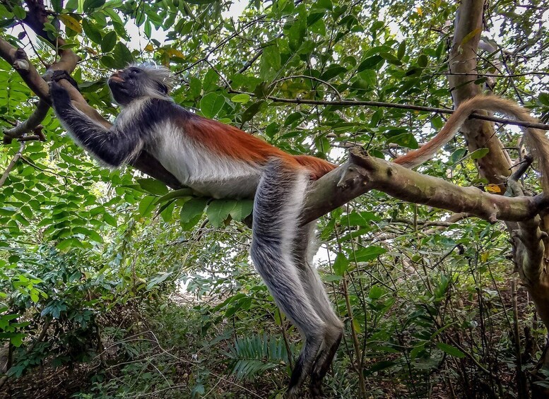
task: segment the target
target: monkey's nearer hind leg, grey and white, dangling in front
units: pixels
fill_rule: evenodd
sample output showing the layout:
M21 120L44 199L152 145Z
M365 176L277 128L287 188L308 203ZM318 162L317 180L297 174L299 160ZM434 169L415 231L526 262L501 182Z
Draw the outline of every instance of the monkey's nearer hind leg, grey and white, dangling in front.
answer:
M326 323L302 285L295 240L309 174L283 160L266 165L254 199L251 255L276 304L300 330L305 343L293 369L288 398L295 398L324 341Z

